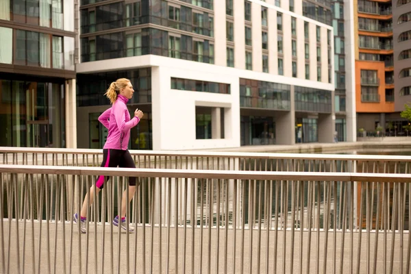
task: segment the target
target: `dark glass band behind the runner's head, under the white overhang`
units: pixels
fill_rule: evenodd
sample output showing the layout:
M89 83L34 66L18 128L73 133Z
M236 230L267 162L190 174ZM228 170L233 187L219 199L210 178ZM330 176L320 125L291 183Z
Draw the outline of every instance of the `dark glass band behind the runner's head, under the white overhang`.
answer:
M77 74L77 107L110 105L105 91L116 79L127 78L133 84L133 103L151 103L151 69L110 71L107 73Z

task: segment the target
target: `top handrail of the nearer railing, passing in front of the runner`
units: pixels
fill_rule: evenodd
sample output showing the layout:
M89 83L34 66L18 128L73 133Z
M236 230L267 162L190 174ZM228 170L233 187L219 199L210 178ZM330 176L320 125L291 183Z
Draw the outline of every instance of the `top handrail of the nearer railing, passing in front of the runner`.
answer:
M291 181L393 182L409 183L411 174L348 173L300 171L215 171L188 169L127 169L85 166L27 166L0 164L0 173L47 175L103 175L123 177L162 177L200 179L251 179Z

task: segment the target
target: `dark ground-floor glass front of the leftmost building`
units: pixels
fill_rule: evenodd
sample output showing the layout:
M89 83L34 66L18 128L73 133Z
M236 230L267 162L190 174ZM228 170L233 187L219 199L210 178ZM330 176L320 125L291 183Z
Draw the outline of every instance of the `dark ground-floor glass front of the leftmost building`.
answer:
M0 147L65 147L64 82L2 77Z

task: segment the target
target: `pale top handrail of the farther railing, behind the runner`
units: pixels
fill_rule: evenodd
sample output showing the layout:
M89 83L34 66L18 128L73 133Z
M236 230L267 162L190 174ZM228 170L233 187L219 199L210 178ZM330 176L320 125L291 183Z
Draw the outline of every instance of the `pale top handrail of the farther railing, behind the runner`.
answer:
M356 143L354 143L356 144ZM381 145L380 142L378 142ZM324 145L324 144L323 144ZM335 146L334 143L327 144ZM351 145L351 144L350 144ZM361 144L356 149L367 148L375 145L373 142ZM389 145L389 144L384 144ZM395 144L393 144L395 145ZM315 147L315 144L311 145ZM398 146L398 145L395 145ZM401 147L411 147L411 142L401 142ZM234 151L152 151L152 150L129 150L131 155L148 156L171 156L171 157L247 157L257 159L295 159L295 160L386 160L411 162L410 156L405 155L354 155L354 154L314 154L314 153L261 153L261 152L234 152ZM103 155L102 149L61 149L61 148L38 148L38 147L0 147L1 153L43 153L43 154L85 154Z

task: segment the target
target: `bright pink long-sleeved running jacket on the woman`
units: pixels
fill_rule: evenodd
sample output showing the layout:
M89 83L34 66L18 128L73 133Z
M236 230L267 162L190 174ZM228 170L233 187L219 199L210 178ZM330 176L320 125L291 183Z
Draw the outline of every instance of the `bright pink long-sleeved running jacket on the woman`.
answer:
M123 95L117 95L117 100L112 107L99 116L100 123L108 128L104 149L126 150L130 138L130 129L140 122L137 116L130 119L127 105L125 105L127 101L128 99Z

